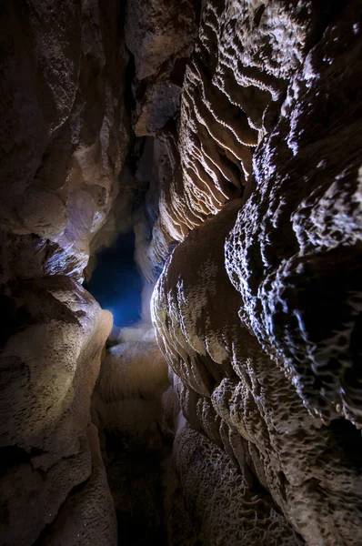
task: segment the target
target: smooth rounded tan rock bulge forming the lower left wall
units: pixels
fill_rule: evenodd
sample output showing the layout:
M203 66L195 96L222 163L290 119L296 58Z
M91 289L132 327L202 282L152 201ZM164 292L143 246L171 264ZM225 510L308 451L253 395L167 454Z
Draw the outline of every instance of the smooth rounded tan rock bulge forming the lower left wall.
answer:
M14 282L2 305L2 541L73 545L98 533L114 545L115 517L90 425L111 315L75 281L57 276Z

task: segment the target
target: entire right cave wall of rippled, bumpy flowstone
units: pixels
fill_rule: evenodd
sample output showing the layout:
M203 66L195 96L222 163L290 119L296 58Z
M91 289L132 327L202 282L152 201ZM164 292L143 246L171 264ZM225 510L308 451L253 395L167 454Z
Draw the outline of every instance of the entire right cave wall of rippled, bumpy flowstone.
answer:
M183 242L153 318L183 414L247 477L239 494L263 486L313 546L362 542L360 17L358 2L204 5L160 206Z

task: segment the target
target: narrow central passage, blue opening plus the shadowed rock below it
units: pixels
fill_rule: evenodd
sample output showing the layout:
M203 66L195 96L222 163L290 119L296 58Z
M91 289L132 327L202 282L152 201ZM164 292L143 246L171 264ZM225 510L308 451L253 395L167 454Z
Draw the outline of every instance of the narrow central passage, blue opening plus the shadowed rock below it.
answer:
M134 231L118 235L112 246L96 254L96 268L84 283L101 307L112 312L115 332L108 339L91 409L115 505L118 544L166 546L163 480L171 442L161 430L157 382L162 376L161 390L166 388L166 364L152 325L142 316L135 247ZM147 371L155 360L156 377Z

